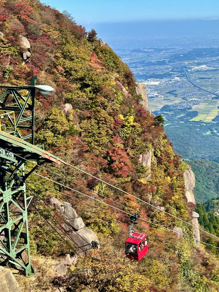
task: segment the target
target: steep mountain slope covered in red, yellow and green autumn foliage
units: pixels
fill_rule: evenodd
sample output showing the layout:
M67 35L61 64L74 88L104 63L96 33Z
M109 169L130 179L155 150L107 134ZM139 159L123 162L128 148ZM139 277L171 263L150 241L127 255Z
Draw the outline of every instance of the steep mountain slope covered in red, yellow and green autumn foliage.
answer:
M136 94L137 84L127 65L96 36L88 38L85 28L72 21L68 13L29 0L0 0L0 7L1 84L29 84L37 76L37 84L55 89L51 95L36 95L36 143L44 144L48 151L92 175L191 222L190 208L194 206L187 204L183 178L188 166L174 154L162 125L140 105L142 97ZM93 249L91 256L80 255L77 265L68 269L70 277L54 282L50 257L60 260L63 254L74 251L30 208L33 265L40 272L35 282L16 275L22 291L54 291L54 283L62 291L218 289L218 260L204 246L200 246L200 251L195 249L190 227L73 168L46 167L62 177L46 170L38 170L39 173L75 187L66 179L69 178L82 185L77 186L81 192L117 206L110 201L113 199L126 206L123 210L132 208L151 222L179 227L191 238L179 239L161 227L139 224L136 230L150 236L150 251L140 263L133 262L124 258L128 233L124 213L114 213L113 208L32 175L32 183L27 184L38 200L68 200L81 210L78 213L86 226L98 234L101 248ZM38 200L34 203L46 218L57 218L55 211L41 206Z

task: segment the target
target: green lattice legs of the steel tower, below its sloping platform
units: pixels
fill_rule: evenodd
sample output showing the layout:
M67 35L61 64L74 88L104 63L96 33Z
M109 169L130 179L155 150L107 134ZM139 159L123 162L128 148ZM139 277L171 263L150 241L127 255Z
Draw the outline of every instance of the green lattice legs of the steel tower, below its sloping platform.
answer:
M26 195L24 161L20 160L1 153L0 261L25 270L30 277L34 269L30 263L27 208L32 197Z

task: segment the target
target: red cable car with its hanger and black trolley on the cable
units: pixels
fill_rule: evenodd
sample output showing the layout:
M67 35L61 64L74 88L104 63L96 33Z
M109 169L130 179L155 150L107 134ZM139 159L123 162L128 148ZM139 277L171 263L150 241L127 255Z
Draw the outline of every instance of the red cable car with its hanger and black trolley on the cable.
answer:
M138 224L136 220L140 215L134 213L130 216L128 227L128 239L126 239L125 254L132 260L141 260L148 252L148 237L145 233L134 232L133 224Z

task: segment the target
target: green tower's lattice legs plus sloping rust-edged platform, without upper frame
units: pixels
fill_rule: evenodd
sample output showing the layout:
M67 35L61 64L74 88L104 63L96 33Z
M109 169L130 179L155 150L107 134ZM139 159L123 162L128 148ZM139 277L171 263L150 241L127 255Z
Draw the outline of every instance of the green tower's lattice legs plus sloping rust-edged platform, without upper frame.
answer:
M26 161L36 164L27 170ZM34 269L30 263L25 181L43 163L66 164L53 154L25 140L0 131L0 265L23 270L27 277Z

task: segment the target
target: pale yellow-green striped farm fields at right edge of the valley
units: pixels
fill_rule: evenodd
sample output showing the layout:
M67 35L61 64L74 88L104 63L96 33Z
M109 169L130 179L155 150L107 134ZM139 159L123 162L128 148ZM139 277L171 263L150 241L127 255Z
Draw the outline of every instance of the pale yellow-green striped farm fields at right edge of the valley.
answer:
M219 112L219 100L203 100L199 105L193 105L192 110L196 110L199 114L190 121L211 122Z

